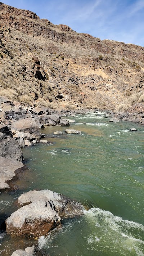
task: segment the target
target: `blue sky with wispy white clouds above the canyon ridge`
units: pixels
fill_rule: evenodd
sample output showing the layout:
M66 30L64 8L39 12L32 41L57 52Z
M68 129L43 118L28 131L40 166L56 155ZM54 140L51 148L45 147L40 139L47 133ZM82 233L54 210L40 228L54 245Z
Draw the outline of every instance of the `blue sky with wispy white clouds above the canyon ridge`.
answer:
M144 0L1 0L54 24L103 39L144 46Z

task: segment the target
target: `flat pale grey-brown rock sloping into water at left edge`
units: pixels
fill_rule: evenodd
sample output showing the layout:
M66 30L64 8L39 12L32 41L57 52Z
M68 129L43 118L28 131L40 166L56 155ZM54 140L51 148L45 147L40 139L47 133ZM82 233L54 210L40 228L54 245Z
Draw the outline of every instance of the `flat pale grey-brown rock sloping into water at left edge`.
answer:
M22 167L23 163L0 156L0 189L10 188L7 181L12 180L15 171Z

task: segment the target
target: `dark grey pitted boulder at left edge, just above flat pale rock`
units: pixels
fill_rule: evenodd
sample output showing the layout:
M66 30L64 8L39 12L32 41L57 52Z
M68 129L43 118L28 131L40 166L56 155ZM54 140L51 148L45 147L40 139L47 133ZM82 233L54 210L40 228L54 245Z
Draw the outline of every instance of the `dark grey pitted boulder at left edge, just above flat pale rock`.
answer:
M11 136L0 133L0 156L13 158L14 160L23 161L23 154L19 143Z

